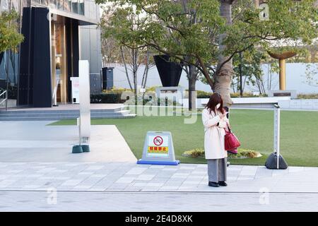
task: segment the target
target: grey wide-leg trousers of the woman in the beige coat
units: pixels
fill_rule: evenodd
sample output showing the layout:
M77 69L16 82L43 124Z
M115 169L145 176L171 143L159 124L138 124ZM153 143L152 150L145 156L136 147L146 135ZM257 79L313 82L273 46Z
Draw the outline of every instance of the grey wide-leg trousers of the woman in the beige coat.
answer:
M208 181L226 182L227 157L217 160L208 160Z

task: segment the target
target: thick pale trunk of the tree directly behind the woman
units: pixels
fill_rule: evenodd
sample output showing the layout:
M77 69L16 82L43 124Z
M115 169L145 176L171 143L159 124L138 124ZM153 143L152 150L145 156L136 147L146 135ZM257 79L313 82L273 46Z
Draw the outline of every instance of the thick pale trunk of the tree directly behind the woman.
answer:
M232 4L231 1L220 1L220 15L226 19L228 25L232 24ZM232 59L223 64L228 57L222 54L223 50L226 48L222 44L225 40L226 34L220 35L220 56L218 57L218 66L216 67L215 82L213 85L213 92L220 93L223 98L224 106L230 107L232 105L232 100L230 98L230 85L233 75ZM223 66L222 66L223 64Z

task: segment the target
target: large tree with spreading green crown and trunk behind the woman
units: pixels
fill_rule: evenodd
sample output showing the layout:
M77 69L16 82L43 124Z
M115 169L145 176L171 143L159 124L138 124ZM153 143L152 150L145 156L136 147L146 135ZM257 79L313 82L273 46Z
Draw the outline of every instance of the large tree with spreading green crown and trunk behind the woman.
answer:
M251 0L96 2L114 4L114 14L110 18L112 29L108 32L116 35L122 44L151 46L160 53L169 54L175 61L196 66L211 89L221 93L226 105L231 105L232 71L228 63L232 64L235 54L251 47L264 52L281 52L290 46L310 45L317 37L318 13L314 0L268 0L269 18L266 20L261 19L261 9ZM227 8L228 5L231 8ZM220 16L220 6L226 6L232 13ZM137 15L136 20L129 19L133 14ZM223 66L227 70L222 71Z

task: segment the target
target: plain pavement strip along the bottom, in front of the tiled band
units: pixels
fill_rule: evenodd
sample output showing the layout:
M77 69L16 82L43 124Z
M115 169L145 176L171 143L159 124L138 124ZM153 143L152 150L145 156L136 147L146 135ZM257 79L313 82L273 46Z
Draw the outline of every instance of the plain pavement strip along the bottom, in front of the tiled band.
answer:
M0 191L0 211L317 211L318 194ZM191 215L191 213L189 213Z

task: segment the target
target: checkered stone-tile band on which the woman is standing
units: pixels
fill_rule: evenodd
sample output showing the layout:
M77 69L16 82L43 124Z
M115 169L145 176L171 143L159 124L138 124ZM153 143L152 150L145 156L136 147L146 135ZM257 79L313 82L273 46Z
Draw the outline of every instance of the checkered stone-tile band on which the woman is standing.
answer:
M228 186L207 186L206 165L134 162L0 162L0 191L318 193L318 168L230 165Z

